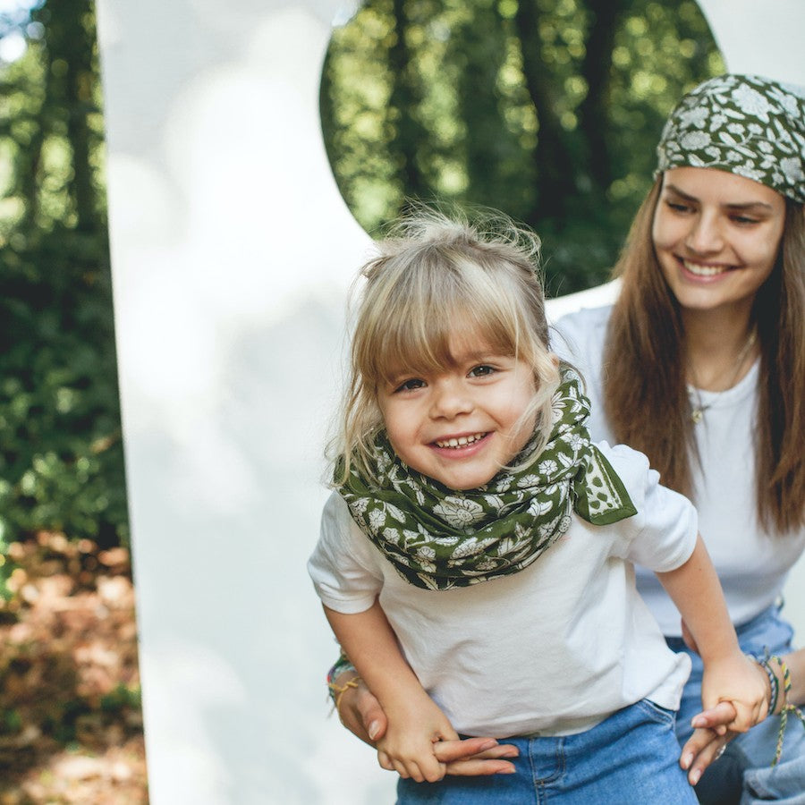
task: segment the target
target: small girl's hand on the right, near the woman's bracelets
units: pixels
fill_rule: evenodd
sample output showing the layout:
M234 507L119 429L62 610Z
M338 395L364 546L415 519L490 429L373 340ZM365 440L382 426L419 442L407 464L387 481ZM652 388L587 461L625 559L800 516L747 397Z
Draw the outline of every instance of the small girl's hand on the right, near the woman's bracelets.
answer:
M702 705L707 711L716 708L719 702L729 702L734 708L734 715L724 716L726 710L722 709L723 717L714 716L714 724L703 722L702 726L715 726L716 732L725 729L745 733L766 718L768 699L766 672L750 657L736 652L728 659L712 660L705 664L701 682Z

